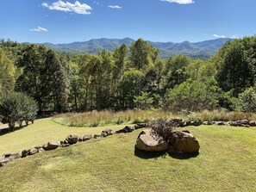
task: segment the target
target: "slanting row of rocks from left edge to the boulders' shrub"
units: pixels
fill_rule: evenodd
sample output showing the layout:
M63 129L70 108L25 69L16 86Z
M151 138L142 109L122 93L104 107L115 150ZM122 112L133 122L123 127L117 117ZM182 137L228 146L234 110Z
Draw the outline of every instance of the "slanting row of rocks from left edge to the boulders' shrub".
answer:
M25 149L22 152L4 154L3 156L0 156L0 167L3 166L4 164L9 163L10 161L15 160L16 158L26 158L27 156L34 155L38 152L50 151L57 149L59 147L67 147L70 145L74 145L78 142L83 142L90 139L105 138L114 133L130 133L133 132L135 129L144 127L147 127L146 123L139 123L134 125L134 127L126 126L117 131L114 131L112 129L104 129L101 134L84 134L84 136L82 137L79 137L78 135L75 134L70 134L66 137L65 140L50 141L43 146L35 146L31 149Z

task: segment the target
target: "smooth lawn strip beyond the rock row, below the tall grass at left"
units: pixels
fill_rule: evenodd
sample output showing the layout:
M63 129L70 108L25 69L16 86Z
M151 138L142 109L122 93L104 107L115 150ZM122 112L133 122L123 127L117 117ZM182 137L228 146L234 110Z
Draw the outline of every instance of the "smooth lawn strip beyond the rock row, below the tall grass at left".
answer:
M119 129L124 127L109 127ZM0 136L0 155L8 152L20 152L34 146L41 146L51 140L64 140L68 134L99 134L108 127L66 127L54 123L50 118L34 121L34 124Z

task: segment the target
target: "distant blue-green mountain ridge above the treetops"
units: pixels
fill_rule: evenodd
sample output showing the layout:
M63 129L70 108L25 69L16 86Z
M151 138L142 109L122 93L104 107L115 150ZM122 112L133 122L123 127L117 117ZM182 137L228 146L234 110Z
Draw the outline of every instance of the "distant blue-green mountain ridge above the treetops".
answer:
M159 48L159 56L162 58L169 58L170 56L175 56L178 53L185 54L190 58L202 58L208 59L210 56L214 55L217 50L224 45L227 40L233 40L229 38L220 38L215 40L204 40L201 42L191 43L189 41L184 41L181 43L173 42L153 42L147 41L151 45ZM43 43L43 45L48 46L59 52L69 52L69 53L97 53L100 50L106 49L108 51L113 51L116 47L121 46L122 43L130 46L134 42L131 38L124 39L92 39L84 42L72 42L66 44L51 44Z

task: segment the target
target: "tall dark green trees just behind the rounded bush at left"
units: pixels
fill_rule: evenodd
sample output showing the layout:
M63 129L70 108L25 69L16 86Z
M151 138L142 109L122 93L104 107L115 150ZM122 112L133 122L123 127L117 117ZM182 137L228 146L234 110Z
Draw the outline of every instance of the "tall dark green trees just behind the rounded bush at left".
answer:
M45 46L23 47L18 66L22 75L16 82L16 90L25 92L38 102L43 110L63 111L69 94L69 66L66 59Z

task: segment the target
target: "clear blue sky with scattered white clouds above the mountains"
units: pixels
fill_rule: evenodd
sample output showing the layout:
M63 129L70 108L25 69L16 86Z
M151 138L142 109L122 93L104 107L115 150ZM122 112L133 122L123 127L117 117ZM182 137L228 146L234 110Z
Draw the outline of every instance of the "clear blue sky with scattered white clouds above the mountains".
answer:
M192 42L256 34L255 0L0 0L0 38Z

